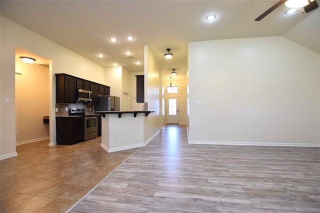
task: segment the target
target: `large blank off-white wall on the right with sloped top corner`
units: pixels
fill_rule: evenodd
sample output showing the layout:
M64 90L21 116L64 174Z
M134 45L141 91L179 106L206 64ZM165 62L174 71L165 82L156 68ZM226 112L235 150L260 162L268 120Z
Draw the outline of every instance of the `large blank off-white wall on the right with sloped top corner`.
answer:
M190 142L319 145L318 53L272 36L189 42L188 54Z

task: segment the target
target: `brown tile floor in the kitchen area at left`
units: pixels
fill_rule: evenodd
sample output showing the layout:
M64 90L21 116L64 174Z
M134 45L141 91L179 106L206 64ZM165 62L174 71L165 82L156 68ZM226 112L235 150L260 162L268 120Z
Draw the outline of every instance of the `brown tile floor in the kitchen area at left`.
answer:
M0 212L65 212L136 150L107 153L100 140L16 146L0 161Z

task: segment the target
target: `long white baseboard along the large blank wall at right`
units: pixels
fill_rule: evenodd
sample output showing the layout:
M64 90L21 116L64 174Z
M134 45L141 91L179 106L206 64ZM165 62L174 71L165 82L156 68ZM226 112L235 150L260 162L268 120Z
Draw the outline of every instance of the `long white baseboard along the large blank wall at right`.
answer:
M197 141L189 140L189 144L210 144L210 145L263 145L263 146L306 146L320 147L319 143L283 143L283 142L243 142L243 141Z

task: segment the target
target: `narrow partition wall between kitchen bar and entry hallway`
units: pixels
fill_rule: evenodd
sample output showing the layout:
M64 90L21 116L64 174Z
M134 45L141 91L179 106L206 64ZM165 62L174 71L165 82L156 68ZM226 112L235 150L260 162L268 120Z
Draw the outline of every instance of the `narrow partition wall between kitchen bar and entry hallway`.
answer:
M147 102L149 111L154 111L144 117L144 141L157 133L160 127L160 86L159 65L151 49L144 46L144 102Z

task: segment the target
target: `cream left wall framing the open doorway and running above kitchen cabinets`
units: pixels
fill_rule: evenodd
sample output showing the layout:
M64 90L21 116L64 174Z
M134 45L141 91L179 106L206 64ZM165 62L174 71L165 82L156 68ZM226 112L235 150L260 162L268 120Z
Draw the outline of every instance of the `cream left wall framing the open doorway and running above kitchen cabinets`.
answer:
M0 17L1 73L0 73L0 158L15 152L15 94L14 67L15 47L26 49L50 59L49 68L49 116L55 117L54 73L68 73L98 83L103 82L104 68L92 61L54 43L53 41L7 19ZM5 98L10 99L5 104ZM50 119L50 144L55 144L55 119Z

